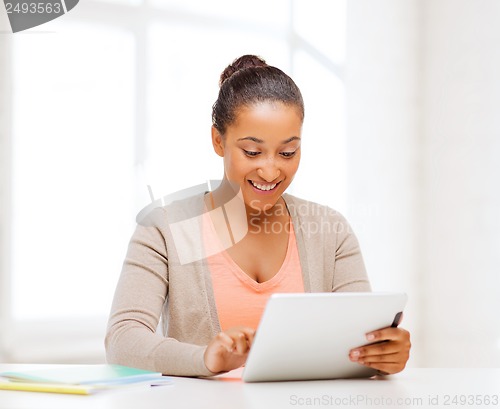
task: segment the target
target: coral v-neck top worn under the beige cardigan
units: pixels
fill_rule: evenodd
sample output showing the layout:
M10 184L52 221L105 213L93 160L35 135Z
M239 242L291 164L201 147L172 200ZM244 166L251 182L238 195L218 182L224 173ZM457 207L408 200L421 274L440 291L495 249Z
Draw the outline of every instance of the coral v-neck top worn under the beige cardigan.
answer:
M218 242L217 233L210 217L205 220L204 241L213 246ZM289 226L285 260L279 271L262 283L249 277L226 250L210 252L207 262L222 331L235 326L257 329L271 294L304 292L295 232L291 222Z

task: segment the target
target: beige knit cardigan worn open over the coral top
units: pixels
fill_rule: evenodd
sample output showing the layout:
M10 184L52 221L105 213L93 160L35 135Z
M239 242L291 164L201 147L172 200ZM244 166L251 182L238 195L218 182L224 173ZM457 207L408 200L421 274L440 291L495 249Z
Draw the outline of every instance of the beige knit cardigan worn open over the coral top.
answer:
M305 291L370 291L358 241L344 217L288 194L283 198ZM153 210L137 225L109 317L108 363L167 375L213 375L203 360L206 345L220 332L210 272L203 260L180 263L169 227L203 209L203 195L196 195ZM160 317L166 336L157 331Z

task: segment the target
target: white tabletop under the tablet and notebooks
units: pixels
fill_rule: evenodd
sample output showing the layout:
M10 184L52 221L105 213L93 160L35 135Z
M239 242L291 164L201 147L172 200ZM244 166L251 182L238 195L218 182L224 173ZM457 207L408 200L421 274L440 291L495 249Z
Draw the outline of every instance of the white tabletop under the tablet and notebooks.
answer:
M0 364L0 372L38 367ZM0 391L0 409L500 409L500 368L407 368L377 379L254 384L243 383L240 374L237 370L211 379L172 377L173 383L168 386L136 386L91 396Z

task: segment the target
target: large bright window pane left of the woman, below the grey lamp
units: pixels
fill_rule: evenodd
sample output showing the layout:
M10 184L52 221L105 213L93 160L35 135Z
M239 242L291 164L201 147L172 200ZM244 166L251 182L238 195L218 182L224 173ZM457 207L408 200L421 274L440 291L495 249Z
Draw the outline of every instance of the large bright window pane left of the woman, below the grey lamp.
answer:
M134 41L14 39L13 313L106 314L133 227Z

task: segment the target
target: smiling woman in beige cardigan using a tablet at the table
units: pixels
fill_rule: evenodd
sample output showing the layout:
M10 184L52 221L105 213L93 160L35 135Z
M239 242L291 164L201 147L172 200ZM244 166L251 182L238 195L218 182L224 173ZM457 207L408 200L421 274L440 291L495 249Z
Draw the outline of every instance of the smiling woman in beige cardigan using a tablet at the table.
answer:
M171 375L229 371L245 363L271 294L370 290L347 221L285 194L300 162L303 119L301 93L283 71L251 55L224 70L212 115L222 182L155 209L137 226L109 319L109 362ZM202 215L196 226L193 214ZM235 224L246 231L239 241ZM232 245L212 251L227 235ZM179 248L176 236L191 248ZM179 252L199 250L193 243L211 251L182 262ZM165 336L155 334L161 315ZM370 335L381 342L351 351L351 360L401 371L409 333L386 328Z

